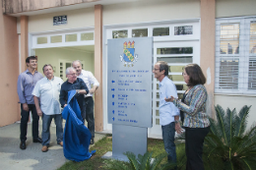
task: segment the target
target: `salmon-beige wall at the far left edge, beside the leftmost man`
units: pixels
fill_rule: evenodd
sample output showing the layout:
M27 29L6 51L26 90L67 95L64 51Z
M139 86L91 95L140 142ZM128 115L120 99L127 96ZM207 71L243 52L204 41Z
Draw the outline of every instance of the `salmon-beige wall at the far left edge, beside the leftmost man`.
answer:
M21 118L17 94L19 37L16 18L2 15L2 8L0 14L0 127L3 127Z

